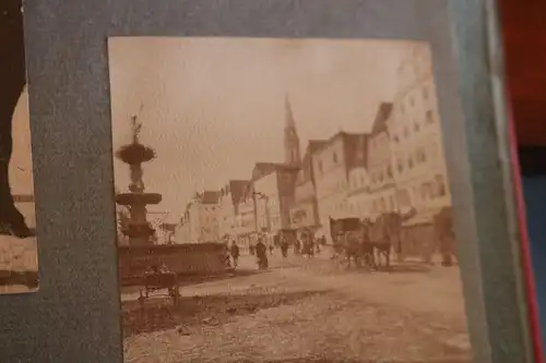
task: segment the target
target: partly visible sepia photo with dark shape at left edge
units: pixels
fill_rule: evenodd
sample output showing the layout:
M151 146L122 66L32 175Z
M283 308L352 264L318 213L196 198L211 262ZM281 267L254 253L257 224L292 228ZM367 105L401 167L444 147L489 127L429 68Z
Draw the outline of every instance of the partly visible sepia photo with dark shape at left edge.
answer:
M0 294L38 288L22 3L0 12Z

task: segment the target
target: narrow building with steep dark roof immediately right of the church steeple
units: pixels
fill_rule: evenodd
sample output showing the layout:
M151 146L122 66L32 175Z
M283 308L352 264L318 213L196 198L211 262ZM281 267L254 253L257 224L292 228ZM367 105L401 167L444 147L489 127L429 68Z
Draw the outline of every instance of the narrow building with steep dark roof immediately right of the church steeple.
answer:
M294 193L294 206L290 208L293 229L311 229L320 227L319 206L314 189L312 155L327 145L325 141L310 140L297 173Z

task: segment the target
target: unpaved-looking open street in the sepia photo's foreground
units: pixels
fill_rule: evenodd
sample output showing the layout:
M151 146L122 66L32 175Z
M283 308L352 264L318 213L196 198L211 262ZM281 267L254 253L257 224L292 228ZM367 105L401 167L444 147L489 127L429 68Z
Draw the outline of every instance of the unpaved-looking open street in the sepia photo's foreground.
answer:
M177 311L157 297L142 316L124 295L126 362L470 362L456 268L271 265L245 256L238 276L183 287Z

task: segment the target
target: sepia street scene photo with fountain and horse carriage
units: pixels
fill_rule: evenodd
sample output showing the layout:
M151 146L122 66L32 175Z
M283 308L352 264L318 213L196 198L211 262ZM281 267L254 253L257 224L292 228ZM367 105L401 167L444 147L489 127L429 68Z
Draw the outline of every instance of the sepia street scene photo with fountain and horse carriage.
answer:
M126 362L471 362L427 44L108 55Z

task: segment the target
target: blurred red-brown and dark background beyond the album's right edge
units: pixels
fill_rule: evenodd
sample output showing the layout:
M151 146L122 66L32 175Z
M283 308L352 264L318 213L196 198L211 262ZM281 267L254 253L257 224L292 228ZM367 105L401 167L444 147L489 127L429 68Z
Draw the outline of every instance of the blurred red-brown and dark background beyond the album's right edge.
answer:
M546 347L546 1L500 0L500 5L507 83Z

